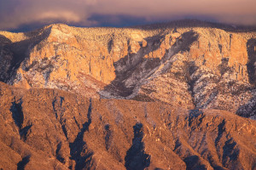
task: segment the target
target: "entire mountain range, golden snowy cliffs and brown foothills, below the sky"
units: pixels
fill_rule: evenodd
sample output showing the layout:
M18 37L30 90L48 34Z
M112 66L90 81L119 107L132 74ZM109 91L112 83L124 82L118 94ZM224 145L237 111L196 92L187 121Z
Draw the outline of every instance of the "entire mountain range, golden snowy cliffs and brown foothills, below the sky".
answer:
M256 169L256 29L0 31L0 169Z

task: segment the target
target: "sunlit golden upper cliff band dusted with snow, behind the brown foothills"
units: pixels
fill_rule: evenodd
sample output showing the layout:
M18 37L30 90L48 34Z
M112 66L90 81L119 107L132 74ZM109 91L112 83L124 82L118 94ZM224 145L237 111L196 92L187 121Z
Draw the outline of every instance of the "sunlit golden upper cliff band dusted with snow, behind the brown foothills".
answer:
M1 80L15 87L255 115L255 32L52 25L1 35Z

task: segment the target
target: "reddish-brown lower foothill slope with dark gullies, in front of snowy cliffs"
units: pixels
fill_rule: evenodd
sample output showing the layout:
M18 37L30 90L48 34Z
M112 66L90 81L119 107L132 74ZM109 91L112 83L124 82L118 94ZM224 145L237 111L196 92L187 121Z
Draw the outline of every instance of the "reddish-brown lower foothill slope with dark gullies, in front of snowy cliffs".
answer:
M228 111L0 84L0 168L254 169L256 122Z

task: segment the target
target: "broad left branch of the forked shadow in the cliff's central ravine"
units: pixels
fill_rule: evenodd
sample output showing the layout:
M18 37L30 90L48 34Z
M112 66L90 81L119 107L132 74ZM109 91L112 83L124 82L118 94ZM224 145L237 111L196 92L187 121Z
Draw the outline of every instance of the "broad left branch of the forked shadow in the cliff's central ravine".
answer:
M141 47L136 54L131 54L131 47L128 48L128 55L125 58L113 63L115 67L116 78L111 82L105 91L110 92L112 95L127 97L132 94L135 84L130 86L125 85L125 80L141 79L148 71L160 65L160 59L146 59L144 55L160 48L161 39L164 36L158 35L146 38L148 45ZM134 78L132 78L134 77Z

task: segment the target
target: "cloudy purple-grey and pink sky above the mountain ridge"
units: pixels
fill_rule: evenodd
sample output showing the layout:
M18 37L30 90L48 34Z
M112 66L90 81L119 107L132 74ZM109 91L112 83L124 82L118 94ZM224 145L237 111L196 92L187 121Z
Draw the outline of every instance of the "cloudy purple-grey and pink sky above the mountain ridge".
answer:
M196 19L256 26L256 0L0 0L0 30L137 26Z

